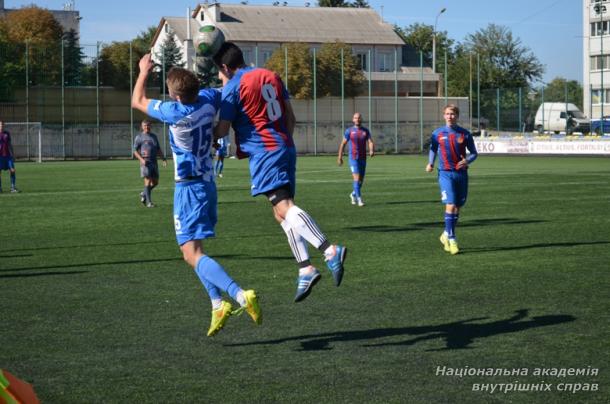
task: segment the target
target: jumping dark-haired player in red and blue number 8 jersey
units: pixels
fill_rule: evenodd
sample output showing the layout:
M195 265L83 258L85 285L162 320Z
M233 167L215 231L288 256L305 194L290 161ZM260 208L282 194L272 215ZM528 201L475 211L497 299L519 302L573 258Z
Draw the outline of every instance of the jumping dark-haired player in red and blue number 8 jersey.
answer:
M237 157L249 158L251 194L265 195L273 205L275 219L286 233L299 267L295 302L305 299L321 277L311 265L306 241L324 254L339 286L347 249L331 244L312 217L294 203L296 149L292 134L296 119L284 83L270 70L246 67L241 49L231 42L221 46L214 62L224 84L214 135L223 137L233 124Z

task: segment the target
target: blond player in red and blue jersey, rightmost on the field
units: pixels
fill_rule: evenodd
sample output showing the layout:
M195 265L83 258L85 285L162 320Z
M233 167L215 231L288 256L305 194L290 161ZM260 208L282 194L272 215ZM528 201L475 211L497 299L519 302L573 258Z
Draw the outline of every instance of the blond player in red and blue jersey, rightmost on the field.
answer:
M438 184L441 201L445 204L445 231L440 240L445 251L457 254L455 237L460 208L468 196L468 166L477 158L477 149L470 132L457 125L460 110L456 105L445 107L443 117L446 125L432 133L430 154L426 171L432 172L438 156ZM468 154L466 154L468 151Z

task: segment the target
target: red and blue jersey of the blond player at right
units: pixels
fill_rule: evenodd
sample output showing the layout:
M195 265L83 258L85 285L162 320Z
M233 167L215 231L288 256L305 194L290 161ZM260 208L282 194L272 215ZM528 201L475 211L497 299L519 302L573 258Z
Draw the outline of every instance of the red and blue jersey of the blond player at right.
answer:
M433 132L430 147L438 154L439 170L458 170L457 164L466 157L470 137L468 130L457 125L443 126Z

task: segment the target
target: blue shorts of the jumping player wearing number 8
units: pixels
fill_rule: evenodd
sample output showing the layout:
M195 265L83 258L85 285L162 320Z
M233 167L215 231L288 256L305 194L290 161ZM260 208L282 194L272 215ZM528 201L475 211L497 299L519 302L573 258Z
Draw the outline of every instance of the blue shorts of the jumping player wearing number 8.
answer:
M250 192L252 196L264 194L290 185L292 195L296 186L297 152L294 147L257 153L250 156Z

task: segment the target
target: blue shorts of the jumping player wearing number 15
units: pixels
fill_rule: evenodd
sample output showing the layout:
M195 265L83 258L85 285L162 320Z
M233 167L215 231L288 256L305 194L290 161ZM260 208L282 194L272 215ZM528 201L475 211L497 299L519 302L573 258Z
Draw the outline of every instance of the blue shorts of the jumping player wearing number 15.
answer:
M174 190L174 227L179 245L214 237L218 220L216 184L177 182Z

